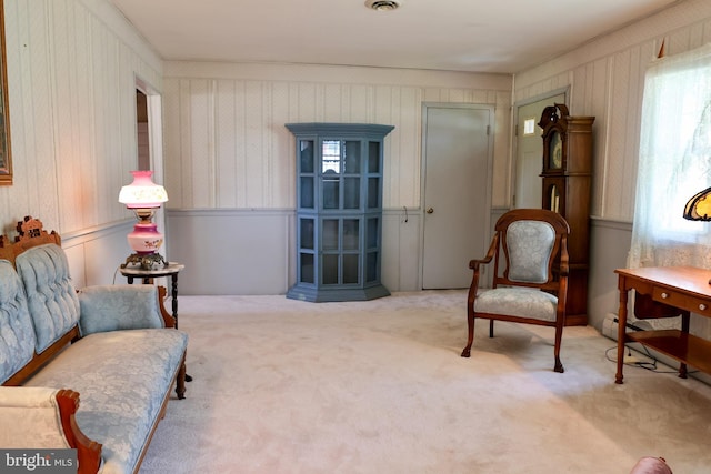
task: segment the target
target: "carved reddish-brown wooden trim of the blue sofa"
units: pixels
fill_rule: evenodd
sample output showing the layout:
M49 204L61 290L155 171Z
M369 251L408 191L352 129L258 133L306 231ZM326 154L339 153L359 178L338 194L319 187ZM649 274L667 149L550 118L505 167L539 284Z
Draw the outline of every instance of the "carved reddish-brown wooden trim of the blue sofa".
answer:
M16 265L16 258L22 252L47 243L53 243L61 246L61 238L58 233L52 231L48 233L42 229L41 221L31 216L26 216L23 221L18 222L17 225L18 236L14 238L14 242L2 235L0 236L0 259L8 260ZM164 300L167 290L164 286L158 288L159 294L159 310L163 319L166 327L176 327L176 319L164 306ZM66 334L63 334L58 341L48 346L42 353L34 352L32 359L18 372L16 372L10 379L8 379L3 386L21 386L23 382L29 380L34 373L40 371L44 364L57 356L68 344L81 339L79 325L74 325ZM176 393L178 399L184 399L186 392L186 354L182 355L182 361L178 366L178 370L172 375L173 385L176 386ZM133 471L137 474L140 471L141 463L150 442L156 433L158 423L164 417L168 401L170 400L171 392L168 391L166 397L161 403L161 409L156 422L151 426L147 442L143 444L141 453L139 454L136 468ZM101 467L101 448L102 445L96 441L89 438L79 428L74 414L79 409L80 394L72 390L63 389L57 393L57 402L60 411L60 418L63 434L72 448L77 448L79 468L78 474L94 474Z

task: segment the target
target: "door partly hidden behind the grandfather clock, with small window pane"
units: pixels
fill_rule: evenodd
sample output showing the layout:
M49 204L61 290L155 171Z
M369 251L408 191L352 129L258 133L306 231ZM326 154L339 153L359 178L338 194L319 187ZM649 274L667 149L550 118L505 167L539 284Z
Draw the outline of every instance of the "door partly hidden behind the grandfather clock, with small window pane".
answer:
M545 98L517 109L517 153L513 206L518 209L542 205L543 140L538 127L548 105L565 103L565 94Z

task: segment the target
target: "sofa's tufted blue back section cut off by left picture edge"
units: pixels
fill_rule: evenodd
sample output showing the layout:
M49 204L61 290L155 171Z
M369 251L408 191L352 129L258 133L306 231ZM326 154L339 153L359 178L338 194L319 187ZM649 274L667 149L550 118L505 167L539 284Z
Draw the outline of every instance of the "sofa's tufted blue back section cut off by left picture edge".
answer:
M0 383L3 383L30 362L37 343L22 282L7 260L0 260Z

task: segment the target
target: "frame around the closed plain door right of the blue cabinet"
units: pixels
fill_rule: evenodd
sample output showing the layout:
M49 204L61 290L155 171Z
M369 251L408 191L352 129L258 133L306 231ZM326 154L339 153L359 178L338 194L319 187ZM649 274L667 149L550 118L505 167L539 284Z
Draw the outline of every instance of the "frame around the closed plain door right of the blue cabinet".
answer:
M461 102L422 102L422 125L421 125L421 149L420 149L420 263L419 263L419 282L418 286L422 290L422 285L424 284L424 225L425 225L425 182L427 182L427 130L428 130L428 109L485 109L489 111L490 121L489 121L489 130L487 134L489 154L487 157L487 190L485 190L485 199L484 199L484 209L485 209L485 219L483 225L484 235L490 235L491 233L491 193L493 189L493 160L494 160L494 135L495 135L495 107L487 103L461 103ZM488 239L484 239L484 242L488 242ZM488 243L485 244L488 245ZM483 253L487 252L487 249L483 249ZM483 256L482 253L482 256ZM464 260L468 256L463 258Z

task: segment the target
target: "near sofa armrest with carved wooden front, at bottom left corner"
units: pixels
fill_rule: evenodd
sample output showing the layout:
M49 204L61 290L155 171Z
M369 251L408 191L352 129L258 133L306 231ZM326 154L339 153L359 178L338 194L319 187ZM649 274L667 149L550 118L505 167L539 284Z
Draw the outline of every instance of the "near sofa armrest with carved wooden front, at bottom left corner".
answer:
M0 386L0 446L74 448L78 472L97 473L101 444L87 437L74 420L79 394L71 390Z

